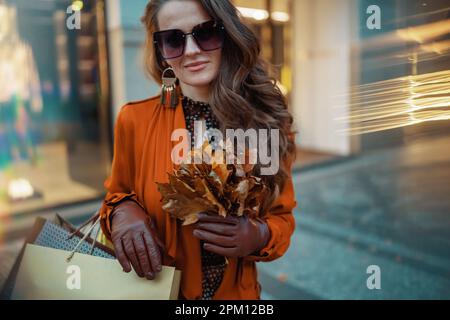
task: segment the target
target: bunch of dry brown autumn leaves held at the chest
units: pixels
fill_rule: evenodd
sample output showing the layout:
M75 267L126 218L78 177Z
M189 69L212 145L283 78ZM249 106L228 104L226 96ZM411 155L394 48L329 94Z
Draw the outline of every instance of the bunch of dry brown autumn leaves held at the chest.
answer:
M222 217L260 216L268 186L254 175L254 165L247 163L248 150L245 164L226 163L230 153L229 149L213 150L208 142L200 150L192 150L173 173L168 173L168 183L158 183L162 208L183 225L196 223L201 212Z

